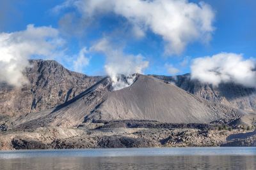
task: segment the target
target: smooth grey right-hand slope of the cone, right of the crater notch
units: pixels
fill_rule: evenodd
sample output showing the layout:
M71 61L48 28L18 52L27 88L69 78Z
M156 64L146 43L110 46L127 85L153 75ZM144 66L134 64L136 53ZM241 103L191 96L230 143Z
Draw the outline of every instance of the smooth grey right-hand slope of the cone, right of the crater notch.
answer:
M90 120L138 119L170 123L209 123L241 116L241 112L200 97L151 76L109 92L104 103L86 117Z

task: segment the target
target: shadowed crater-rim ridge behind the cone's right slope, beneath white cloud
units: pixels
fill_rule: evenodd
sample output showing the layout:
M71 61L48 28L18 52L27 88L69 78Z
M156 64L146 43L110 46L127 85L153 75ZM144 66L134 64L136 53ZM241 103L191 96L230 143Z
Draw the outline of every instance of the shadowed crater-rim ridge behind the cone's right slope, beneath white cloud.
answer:
M214 87L198 80L191 80L190 74L180 76L157 76L164 81L175 83L177 87L209 101L225 104L248 112L256 112L256 89L246 88L234 83L221 83Z

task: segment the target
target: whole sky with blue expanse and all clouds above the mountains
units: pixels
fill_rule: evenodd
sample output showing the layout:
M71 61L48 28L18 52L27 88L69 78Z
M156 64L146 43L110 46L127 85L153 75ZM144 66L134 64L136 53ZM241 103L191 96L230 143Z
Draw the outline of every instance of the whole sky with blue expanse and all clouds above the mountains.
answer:
M24 81L28 59L54 59L113 80L192 73L254 87L255 18L254 0L0 0L0 81Z

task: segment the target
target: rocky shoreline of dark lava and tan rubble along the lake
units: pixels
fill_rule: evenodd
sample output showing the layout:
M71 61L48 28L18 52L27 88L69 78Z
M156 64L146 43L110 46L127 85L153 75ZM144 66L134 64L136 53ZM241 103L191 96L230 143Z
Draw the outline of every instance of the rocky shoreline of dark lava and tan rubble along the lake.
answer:
M84 123L74 128L0 131L0 150L256 146L256 131L214 124L166 124L148 120Z

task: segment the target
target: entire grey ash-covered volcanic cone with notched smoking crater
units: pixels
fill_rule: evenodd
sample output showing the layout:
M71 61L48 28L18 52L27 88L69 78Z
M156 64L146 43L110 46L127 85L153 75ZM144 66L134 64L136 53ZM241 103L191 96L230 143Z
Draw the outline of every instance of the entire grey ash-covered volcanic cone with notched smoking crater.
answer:
M138 74L136 81L111 91L111 81L103 78L67 103L15 122L16 127L74 127L82 122L109 120L157 120L170 123L209 123L236 119L242 111L205 99L152 76Z

